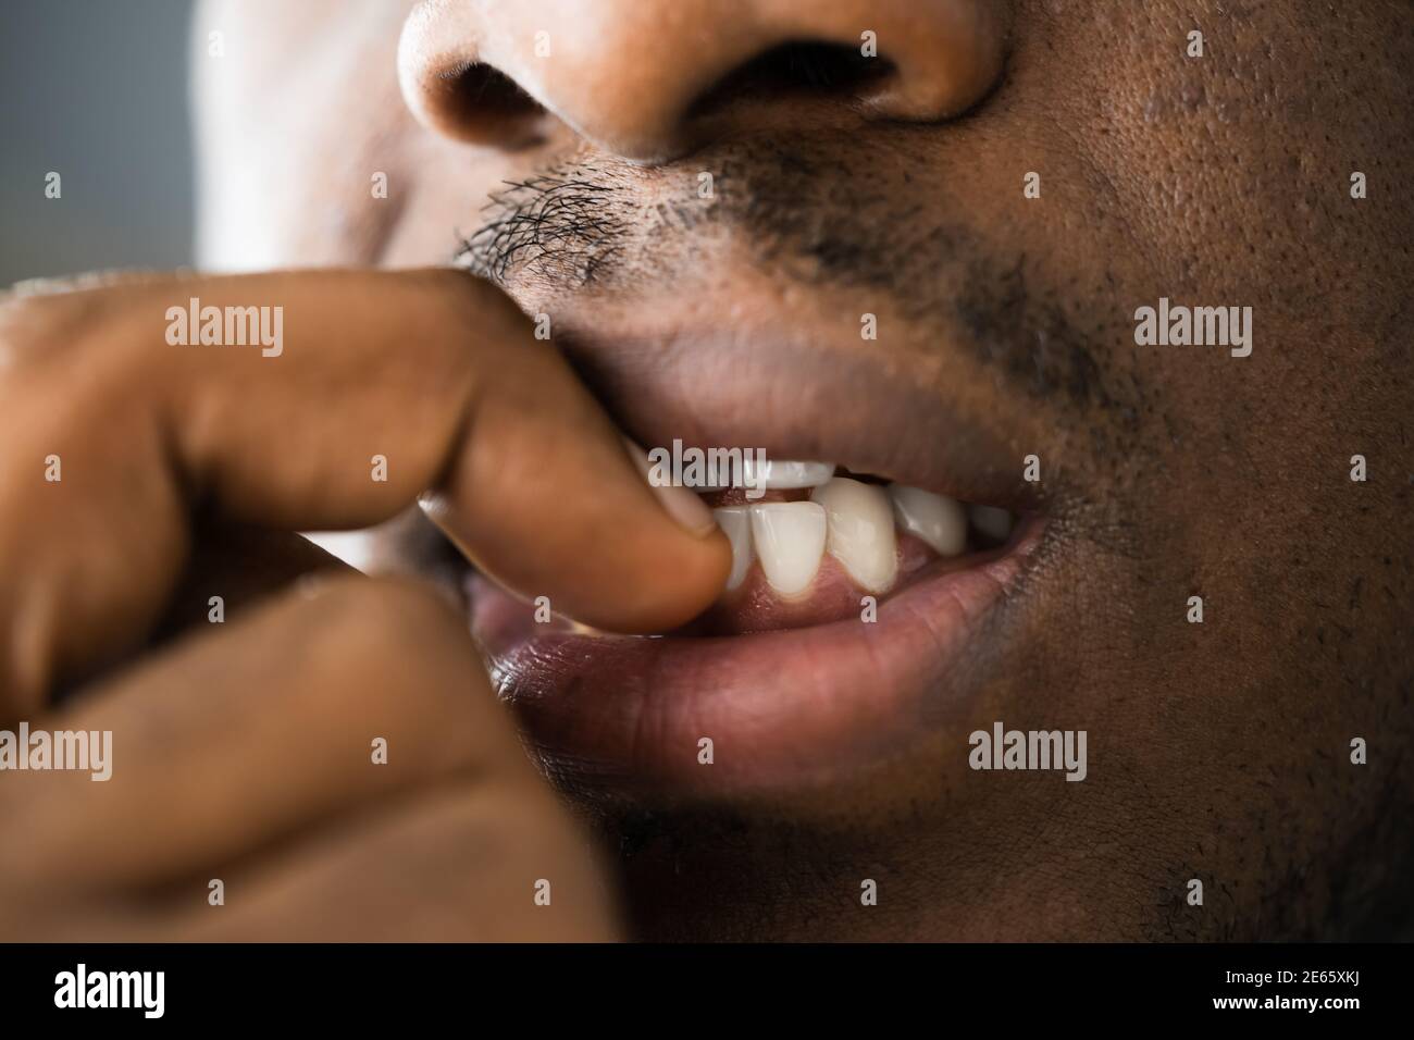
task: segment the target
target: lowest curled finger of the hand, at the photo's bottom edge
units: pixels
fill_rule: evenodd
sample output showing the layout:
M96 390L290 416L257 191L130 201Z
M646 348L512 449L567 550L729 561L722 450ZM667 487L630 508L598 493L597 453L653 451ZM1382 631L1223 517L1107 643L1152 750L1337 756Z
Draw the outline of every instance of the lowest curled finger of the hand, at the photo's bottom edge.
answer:
M602 942L618 938L601 865L549 788L419 792L173 890L170 941ZM351 913L355 910L356 913Z

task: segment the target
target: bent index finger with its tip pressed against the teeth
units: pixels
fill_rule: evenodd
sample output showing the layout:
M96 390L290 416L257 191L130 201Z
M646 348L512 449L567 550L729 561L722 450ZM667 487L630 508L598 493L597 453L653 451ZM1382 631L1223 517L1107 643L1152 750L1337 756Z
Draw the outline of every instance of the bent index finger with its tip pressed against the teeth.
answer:
M188 301L280 307L279 352L173 345ZM199 330L198 330L199 331ZM730 567L674 519L560 355L447 270L143 282L0 307L0 691L133 645L192 504L291 529L386 519L430 487L482 569L590 624L676 625ZM686 505L684 505L686 502ZM699 528L704 531L710 528ZM14 709L10 709L11 713ZM4 717L4 705L0 705Z

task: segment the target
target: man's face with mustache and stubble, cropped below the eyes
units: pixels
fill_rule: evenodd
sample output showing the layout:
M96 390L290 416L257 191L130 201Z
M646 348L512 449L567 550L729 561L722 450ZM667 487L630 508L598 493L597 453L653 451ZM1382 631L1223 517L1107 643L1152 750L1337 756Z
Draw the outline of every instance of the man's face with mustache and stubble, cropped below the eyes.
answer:
M400 55L410 13L199 11L208 260L455 260L547 316L643 446L1019 518L875 628L488 637L641 932L1333 937L1389 911L1407 6L444 0ZM1250 355L1236 325L1137 342L1161 300L1250 313ZM998 722L1083 730L1083 781L973 768Z

